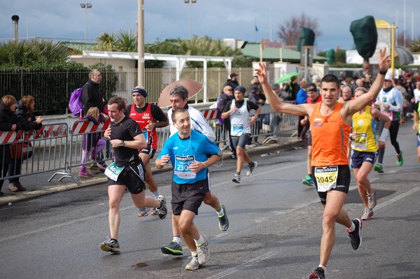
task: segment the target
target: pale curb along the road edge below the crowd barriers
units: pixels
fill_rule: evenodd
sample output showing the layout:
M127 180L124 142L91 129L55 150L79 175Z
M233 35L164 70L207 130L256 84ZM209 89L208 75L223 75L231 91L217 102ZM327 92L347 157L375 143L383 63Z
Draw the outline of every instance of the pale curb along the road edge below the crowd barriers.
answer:
M306 146L306 141L297 141L295 138L287 138L287 137L281 137L279 138L279 142L276 143L269 143L267 145L258 145L248 148L248 154L264 154L265 152L269 153L272 150L290 150L292 148L298 147L298 146ZM223 152L223 159L230 158L230 151L224 151ZM172 171L172 167L167 167L164 169L158 169L155 166L152 167L152 173L162 173ZM80 181L80 185L77 185L77 183L66 183L62 185L55 185L48 187L48 189L37 189L30 192L19 192L18 194L5 194L4 196L0 196L0 206L6 206L11 205L12 203L18 202L18 201L25 201L28 199L34 199L38 196L45 196L48 194L54 194L57 192L64 192L69 191L71 189L78 189L81 187L88 187L93 185L98 185L102 183L106 183L107 179L106 177L94 177L94 178L88 178L83 179Z

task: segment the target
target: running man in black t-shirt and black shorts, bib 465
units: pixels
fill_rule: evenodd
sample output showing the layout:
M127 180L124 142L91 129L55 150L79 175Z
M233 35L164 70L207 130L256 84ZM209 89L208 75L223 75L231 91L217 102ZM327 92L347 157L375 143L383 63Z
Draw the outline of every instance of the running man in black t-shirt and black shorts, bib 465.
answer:
M101 250L106 252L120 252L118 244L118 229L120 227L120 202L125 190L131 193L133 203L137 208L144 206L158 208L160 219L167 215L166 198L159 196L158 200L146 197L144 184L144 165L139 159L137 150L146 148L146 139L139 129L139 125L130 117L124 115L124 100L112 97L108 102L111 126L106 129L104 136L111 139L115 161L106 168L108 176L109 195L109 229L111 239L101 243Z

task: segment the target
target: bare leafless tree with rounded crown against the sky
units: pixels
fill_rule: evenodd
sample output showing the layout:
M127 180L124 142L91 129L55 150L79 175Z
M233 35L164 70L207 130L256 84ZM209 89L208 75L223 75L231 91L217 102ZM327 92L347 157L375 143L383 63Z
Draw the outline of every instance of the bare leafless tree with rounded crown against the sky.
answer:
M300 27L307 27L314 30L315 36L320 36L321 31L318 29L318 20L302 13L300 17L291 17L279 27L279 38L285 45L297 45L300 36Z

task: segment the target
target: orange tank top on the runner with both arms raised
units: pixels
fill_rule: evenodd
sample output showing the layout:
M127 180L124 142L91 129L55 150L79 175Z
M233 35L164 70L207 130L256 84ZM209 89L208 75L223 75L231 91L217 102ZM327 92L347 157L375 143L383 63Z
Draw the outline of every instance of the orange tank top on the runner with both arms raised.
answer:
M351 125L339 113L342 103L337 102L330 115L321 115L321 103L316 103L311 115L312 166L348 165L347 148Z

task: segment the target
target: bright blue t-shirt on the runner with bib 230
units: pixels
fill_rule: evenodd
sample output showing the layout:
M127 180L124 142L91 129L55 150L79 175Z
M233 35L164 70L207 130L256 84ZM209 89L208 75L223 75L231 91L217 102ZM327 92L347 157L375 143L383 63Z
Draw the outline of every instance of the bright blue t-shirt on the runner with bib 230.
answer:
M201 134L199 131L191 130L191 136L181 139L178 132L169 137L163 145L162 151L158 156L171 157L171 164L174 167L174 182L177 184L196 183L207 178L207 169L202 169L198 173L192 173L188 166L194 162L204 162L211 155L222 155L221 149Z

